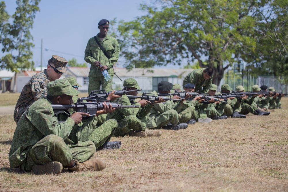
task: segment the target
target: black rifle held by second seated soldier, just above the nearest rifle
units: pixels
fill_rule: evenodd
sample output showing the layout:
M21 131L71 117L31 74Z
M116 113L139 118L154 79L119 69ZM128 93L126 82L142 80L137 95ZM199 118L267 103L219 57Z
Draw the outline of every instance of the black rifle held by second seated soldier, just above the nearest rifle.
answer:
M135 90L130 90L130 91L127 91L127 88L126 86L124 87L123 90L117 90L115 91L114 95L119 95L119 96L122 96L122 95L126 95L127 93L130 93L130 92L134 92L134 91L142 91L142 89L135 89ZM105 101L105 99L107 98L107 96L111 93L112 91L109 91L109 92L106 92L105 90L94 90L94 91L91 91L89 96L87 97L82 97L83 99L85 100L103 100Z

